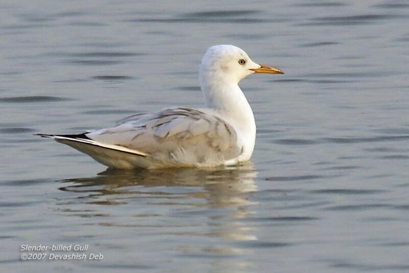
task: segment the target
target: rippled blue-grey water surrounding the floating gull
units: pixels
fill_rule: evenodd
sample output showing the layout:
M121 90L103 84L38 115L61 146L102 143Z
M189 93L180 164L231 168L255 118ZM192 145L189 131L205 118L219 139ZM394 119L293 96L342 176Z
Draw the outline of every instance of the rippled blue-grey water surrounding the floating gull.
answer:
M406 1L0 4L2 271L409 271ZM105 171L33 133L201 106L217 43L286 74L241 87L252 163ZM21 244L99 261L21 261ZM89 253L88 252L88 253Z

